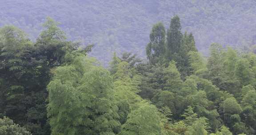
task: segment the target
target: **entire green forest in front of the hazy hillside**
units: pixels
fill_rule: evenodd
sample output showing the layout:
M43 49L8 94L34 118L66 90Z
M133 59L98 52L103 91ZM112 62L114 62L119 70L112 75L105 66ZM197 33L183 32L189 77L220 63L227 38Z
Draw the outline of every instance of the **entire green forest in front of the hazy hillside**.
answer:
M67 39L48 17L35 41L0 28L0 135L256 135L256 54L218 43L209 56L183 32L153 25L144 48L114 54Z

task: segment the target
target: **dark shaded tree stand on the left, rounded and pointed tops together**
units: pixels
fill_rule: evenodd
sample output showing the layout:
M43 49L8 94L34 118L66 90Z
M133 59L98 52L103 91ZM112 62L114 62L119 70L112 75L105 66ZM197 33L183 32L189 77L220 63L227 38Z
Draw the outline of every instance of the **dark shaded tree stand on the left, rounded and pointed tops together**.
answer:
M57 24L48 18L36 43L13 26L0 29L0 114L14 119L33 135L50 134L46 86L52 68L68 63L66 54L86 54L92 48L78 49L79 44L66 41Z

